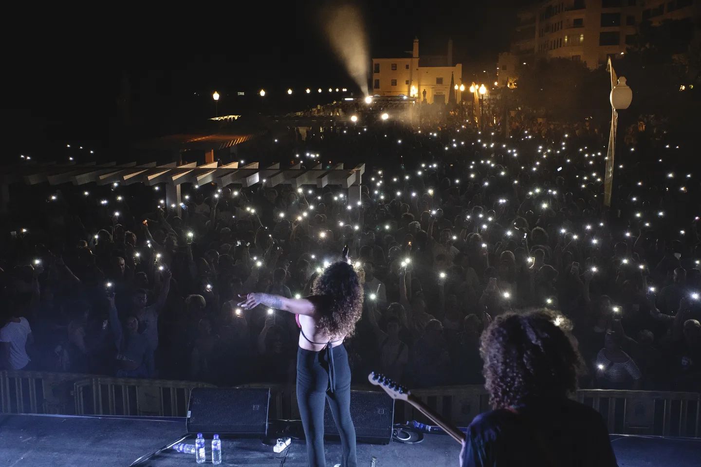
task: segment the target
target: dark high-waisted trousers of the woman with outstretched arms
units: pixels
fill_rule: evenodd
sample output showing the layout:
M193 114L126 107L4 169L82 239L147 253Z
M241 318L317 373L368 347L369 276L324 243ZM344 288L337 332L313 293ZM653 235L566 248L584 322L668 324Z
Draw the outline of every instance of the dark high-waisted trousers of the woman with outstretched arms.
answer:
M358 466L355 454L355 427L351 420L351 367L348 353L341 344L331 348L335 391L329 391L329 351L299 348L297 351L297 405L304 426L307 459L310 467L325 467L324 405L329 407L341 435L342 467Z

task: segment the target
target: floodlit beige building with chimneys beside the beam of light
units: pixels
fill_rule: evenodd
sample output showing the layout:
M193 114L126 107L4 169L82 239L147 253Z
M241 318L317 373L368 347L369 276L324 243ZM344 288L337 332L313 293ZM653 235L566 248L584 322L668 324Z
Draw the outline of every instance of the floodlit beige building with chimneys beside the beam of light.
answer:
M460 86L463 65L453 65L453 44L448 43L447 55L418 55L418 39L414 39L411 57L373 58L372 94L381 96L417 97L419 102L447 103L450 93L455 93L457 102L461 92L451 88Z

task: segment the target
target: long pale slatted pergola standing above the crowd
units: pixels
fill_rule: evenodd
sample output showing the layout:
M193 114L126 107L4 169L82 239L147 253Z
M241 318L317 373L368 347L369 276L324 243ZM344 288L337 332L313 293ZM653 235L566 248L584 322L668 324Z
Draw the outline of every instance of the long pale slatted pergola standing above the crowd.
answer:
M181 165L175 162L164 165L157 165L156 162L141 164L110 162L14 165L0 170L2 174L0 209L3 212L6 212L8 207L9 185L12 183L24 182L30 186L43 183L50 185L70 183L75 186L90 183L98 185L143 183L154 186L163 183L165 184L165 202L167 205L175 204L180 215L182 202L180 188L184 183L196 186L213 183L218 187L234 185L244 188L259 183L264 183L266 187L288 184L295 189L304 185L313 185L318 188L336 185L348 189L349 200L358 201L365 163L352 169L344 168L343 163L336 163L329 169L322 168L320 163L311 168L302 168L301 163L297 163L290 168L280 169L280 163L260 168L258 162L247 163L241 167L238 162L219 165L217 161L201 165L197 165L196 162Z

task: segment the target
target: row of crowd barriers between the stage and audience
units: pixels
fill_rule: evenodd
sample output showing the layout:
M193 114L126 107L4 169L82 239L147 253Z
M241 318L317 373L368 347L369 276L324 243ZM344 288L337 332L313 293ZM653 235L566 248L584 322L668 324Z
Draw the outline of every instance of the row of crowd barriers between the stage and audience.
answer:
M131 379L88 374L0 372L1 409L5 413L142 415L184 417L192 388L213 387L191 381ZM246 384L271 388L273 419L299 419L294 385ZM358 387L367 391L366 386ZM411 391L457 426L467 426L489 410L483 386L444 386ZM701 438L701 393L581 389L576 398L598 410L610 433ZM395 422L430 423L397 401Z

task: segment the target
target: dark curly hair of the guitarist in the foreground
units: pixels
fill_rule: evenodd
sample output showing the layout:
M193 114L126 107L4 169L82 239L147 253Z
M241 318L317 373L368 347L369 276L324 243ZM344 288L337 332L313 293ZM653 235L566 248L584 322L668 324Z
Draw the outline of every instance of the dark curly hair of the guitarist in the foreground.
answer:
M492 407L576 391L582 360L569 334L555 325L555 316L545 310L505 313L484 330L479 353Z

